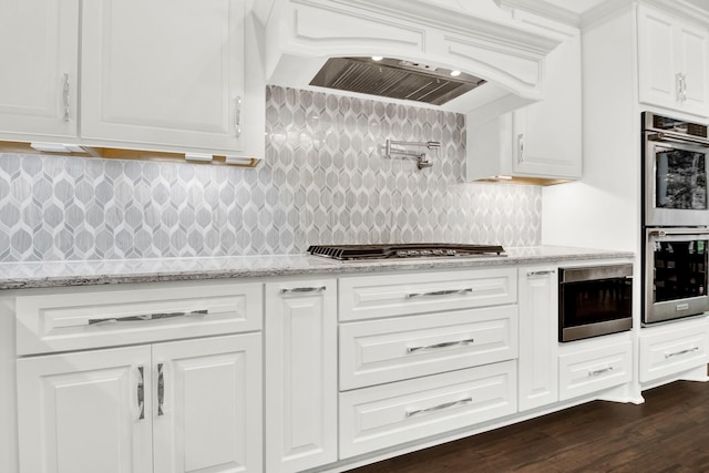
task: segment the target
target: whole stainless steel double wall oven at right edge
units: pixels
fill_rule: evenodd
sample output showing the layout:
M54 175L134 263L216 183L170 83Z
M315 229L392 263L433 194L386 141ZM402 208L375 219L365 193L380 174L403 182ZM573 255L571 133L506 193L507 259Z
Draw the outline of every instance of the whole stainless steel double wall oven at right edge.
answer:
M643 323L709 310L707 125L644 112Z

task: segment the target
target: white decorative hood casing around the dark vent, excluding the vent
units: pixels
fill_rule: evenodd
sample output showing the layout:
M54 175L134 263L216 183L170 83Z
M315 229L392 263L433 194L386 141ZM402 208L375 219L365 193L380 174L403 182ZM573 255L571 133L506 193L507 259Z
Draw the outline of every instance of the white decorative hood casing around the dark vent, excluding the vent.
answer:
M317 90L310 82L330 58L456 70L485 83L438 107L486 120L543 99L545 56L558 43L493 0L275 0L266 19L266 78Z

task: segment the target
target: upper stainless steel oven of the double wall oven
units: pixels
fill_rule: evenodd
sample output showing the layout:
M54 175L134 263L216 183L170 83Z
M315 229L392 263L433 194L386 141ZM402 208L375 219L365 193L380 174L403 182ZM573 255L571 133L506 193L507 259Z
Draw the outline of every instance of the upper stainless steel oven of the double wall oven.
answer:
M644 226L709 225L707 126L643 113Z

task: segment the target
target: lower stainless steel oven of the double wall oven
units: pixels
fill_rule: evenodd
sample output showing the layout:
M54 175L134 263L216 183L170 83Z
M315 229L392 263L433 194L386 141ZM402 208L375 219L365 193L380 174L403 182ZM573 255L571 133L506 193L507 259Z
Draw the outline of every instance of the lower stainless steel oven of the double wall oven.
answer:
M644 323L709 310L709 228L647 228Z

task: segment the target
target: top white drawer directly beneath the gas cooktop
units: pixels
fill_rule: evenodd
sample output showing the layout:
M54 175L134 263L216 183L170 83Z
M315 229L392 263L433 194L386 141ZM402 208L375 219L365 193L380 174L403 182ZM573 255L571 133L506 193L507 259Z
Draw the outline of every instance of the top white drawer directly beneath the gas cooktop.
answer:
M515 268L340 279L340 320L500 306L517 300Z

